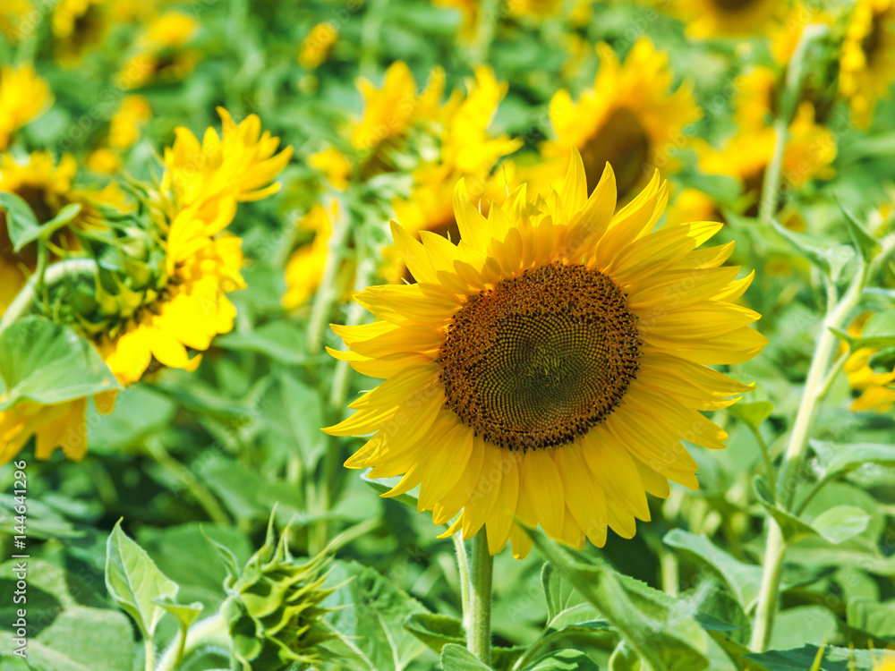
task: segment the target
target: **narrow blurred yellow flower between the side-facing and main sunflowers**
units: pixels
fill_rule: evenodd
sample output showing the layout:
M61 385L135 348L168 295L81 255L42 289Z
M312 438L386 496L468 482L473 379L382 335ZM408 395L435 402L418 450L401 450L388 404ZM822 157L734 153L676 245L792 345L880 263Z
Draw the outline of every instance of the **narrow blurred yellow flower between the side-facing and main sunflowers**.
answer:
M286 309L302 305L320 286L332 235L332 219L338 216L337 201L329 200L326 207L315 203L298 222L299 231L311 234L313 239L295 250L286 263L286 293L283 295Z

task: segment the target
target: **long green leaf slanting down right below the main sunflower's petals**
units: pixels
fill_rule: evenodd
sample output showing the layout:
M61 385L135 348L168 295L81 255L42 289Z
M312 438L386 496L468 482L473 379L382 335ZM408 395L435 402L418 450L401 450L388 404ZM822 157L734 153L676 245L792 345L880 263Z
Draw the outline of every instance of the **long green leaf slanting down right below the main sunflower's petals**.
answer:
M540 532L529 533L541 554L600 610L653 671L699 671L708 666L703 654L706 634L693 618L691 605L621 576L607 565L584 563L583 556Z

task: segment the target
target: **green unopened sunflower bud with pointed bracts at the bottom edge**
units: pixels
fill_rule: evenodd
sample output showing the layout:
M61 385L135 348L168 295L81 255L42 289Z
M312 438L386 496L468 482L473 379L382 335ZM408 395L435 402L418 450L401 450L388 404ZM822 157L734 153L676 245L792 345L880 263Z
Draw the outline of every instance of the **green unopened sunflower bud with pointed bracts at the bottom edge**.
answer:
M318 646L336 636L323 623L331 609L320 603L333 589L324 589L328 556L306 562L289 552L288 529L275 539L273 515L267 539L242 571L227 562L230 576L221 609L233 656L246 671L276 671L294 662L320 661Z

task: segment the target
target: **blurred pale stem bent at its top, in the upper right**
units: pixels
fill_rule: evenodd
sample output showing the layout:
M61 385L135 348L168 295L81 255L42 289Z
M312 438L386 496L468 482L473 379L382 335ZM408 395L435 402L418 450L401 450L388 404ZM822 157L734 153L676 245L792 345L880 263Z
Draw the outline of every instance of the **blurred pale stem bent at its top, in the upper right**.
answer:
M758 217L765 222L770 222L771 217L777 211L783 154L786 149L789 123L796 114L798 98L801 95L805 55L814 39L823 35L826 30L825 26L814 23L805 26L787 66L786 81L784 81L780 96L780 115L774 122L774 150L771 154L771 162L768 164L767 170L764 171L762 200L758 206Z

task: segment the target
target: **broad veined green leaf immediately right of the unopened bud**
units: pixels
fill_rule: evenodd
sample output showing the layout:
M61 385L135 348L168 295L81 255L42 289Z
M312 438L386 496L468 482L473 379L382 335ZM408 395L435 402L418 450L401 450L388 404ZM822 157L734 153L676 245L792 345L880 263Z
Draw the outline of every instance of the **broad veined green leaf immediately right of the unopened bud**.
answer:
M402 671L426 649L403 626L408 616L426 609L404 590L357 562L337 562L331 580L345 584L323 603L337 608L328 620L368 666Z

